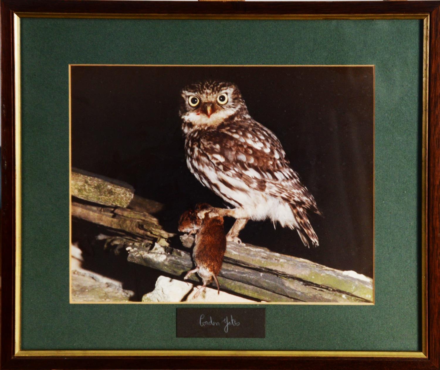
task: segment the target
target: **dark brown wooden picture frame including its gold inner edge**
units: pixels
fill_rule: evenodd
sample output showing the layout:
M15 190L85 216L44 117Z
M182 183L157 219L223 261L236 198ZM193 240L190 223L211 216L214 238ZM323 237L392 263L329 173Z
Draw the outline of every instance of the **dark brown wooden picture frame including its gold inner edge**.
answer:
M99 0L1 0L1 124L2 124L2 209L1 209L1 353L2 369L439 369L440 367L440 248L438 232L440 227L440 2L439 1L393 1L393 2L271 2L271 3L228 3L228 2L148 2L148 1L99 1ZM41 355L27 351L20 355L16 337L16 230L20 215L16 204L20 194L16 183L16 86L15 86L15 44L14 19L16 16L63 17L73 15L83 18L101 16L111 18L124 15L125 18L217 18L261 19L304 18L418 18L429 25L427 45L429 46L428 70L425 75L427 100L427 140L423 144L425 169L422 182L422 234L425 247L422 248L422 352L407 356L407 352L392 355L375 355L375 352L357 352L357 355L343 352L317 352L316 355L288 355L282 352L263 354L222 355L184 351L172 355L152 354L145 356L125 355L114 351L111 355L87 353L56 356ZM19 102L18 102L19 103Z

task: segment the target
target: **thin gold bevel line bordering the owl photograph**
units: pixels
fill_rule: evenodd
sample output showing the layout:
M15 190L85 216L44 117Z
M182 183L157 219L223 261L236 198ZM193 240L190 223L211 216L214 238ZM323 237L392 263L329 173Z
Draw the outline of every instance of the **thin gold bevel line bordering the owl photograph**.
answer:
M71 128L72 128L72 122L71 122L71 71L72 67L74 66L83 66L83 67L371 67L373 68L373 278L372 278L372 301L371 302L261 302L261 301L254 301L254 302L142 302L142 301L74 301L72 300L72 269L71 269L71 261L72 261L72 216L71 216L71 204L72 204L72 193L70 188L70 181L69 181L69 196L70 196L70 203L69 203L69 234L70 234L70 244L69 244L69 303L70 304L211 304L211 305L218 305L218 304L239 304L239 305L255 305L255 304L314 304L314 305L374 305L374 244L375 244L375 235L374 235L374 165L375 165L375 158L374 158L374 131L375 131L375 117L374 117L374 105L375 105L375 66L373 64L335 64L335 65L326 65L326 64L254 64L254 65L246 65L246 64L69 64L69 140L71 138ZM70 149L71 143L69 142L69 149ZM69 153L69 169L70 174L72 172L71 167L71 153ZM70 176L69 174L69 176Z

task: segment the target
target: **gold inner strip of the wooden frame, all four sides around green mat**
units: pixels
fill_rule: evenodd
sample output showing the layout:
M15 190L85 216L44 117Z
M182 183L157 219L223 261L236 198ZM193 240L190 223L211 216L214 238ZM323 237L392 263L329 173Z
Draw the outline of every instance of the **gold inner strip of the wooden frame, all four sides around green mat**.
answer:
M422 352L396 351L202 351L202 350L21 350L21 60L20 18L109 18L109 19L423 19L423 98L422 98ZM429 70L429 14L364 14L364 15L109 15L62 13L14 14L14 81L15 81L15 356L292 356L292 357L374 357L427 358L427 140L428 140L428 70ZM113 65L117 66L117 65ZM347 65L348 66L348 65ZM69 68L70 73L70 68ZM69 75L70 81L70 75ZM70 94L70 88L69 88ZM69 125L70 125L69 97ZM69 127L70 128L70 127ZM70 135L70 129L69 129ZM69 141L69 152L70 152ZM69 161L71 161L69 154ZM70 176L70 175L69 175ZM71 207L71 205L69 205ZM70 274L69 274L70 275Z

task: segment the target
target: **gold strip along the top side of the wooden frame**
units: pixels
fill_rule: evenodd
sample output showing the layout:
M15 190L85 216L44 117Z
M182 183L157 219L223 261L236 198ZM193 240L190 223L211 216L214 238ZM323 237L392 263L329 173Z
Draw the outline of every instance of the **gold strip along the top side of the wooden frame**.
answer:
M428 13L414 14L108 14L108 13L26 13L17 12L15 15L23 18L105 18L105 19L219 19L219 20L326 20L326 19L425 19Z

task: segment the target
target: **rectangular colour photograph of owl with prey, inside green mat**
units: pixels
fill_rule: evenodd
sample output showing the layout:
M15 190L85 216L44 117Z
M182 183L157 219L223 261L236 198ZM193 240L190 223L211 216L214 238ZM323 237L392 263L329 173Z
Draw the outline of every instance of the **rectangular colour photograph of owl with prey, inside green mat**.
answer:
M71 303L374 303L374 66L70 66Z

